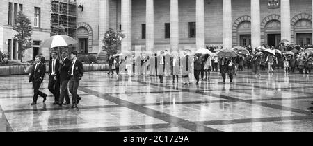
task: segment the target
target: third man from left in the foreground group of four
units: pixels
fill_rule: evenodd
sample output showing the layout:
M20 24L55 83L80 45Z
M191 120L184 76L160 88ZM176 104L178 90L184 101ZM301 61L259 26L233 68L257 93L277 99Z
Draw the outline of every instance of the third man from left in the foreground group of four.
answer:
M62 60L60 60L61 95L58 100L58 105L60 107L62 107L64 98L65 98L65 104L63 105L70 104L70 95L68 94L68 89L67 89L67 84L68 84L67 74L68 74L68 71L70 70L72 62L68 58L67 55L68 55L67 51L62 51L62 54L61 54Z

